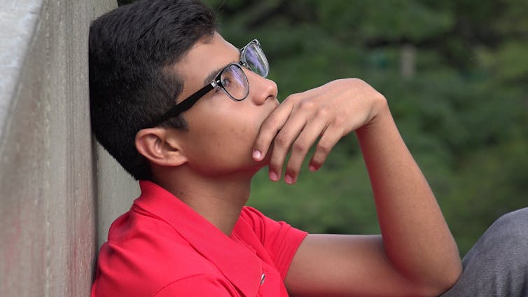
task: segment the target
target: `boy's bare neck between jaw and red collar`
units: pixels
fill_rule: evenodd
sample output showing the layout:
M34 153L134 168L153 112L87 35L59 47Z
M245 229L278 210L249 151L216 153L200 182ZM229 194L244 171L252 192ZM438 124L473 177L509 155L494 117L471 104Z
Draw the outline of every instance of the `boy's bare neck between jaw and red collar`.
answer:
M229 236L249 199L253 174L203 176L188 170L178 171L159 174L164 178L155 181Z

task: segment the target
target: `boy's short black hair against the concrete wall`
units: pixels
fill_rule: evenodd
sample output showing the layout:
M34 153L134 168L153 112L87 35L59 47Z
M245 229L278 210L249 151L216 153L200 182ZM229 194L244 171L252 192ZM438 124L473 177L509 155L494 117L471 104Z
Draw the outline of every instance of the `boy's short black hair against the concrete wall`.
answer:
M135 179L152 179L134 144L137 132L174 105L183 87L174 64L215 30L214 12L196 0L136 1L90 25L92 130ZM187 127L181 116L161 126Z

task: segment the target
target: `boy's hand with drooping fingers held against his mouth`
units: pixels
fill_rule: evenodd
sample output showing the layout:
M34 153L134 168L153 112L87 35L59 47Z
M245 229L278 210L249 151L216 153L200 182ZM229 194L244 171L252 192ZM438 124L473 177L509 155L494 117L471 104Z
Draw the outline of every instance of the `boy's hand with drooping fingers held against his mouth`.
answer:
M339 139L373 124L382 106L386 105L380 92L358 78L331 81L319 88L290 95L260 127L253 158L262 160L272 148L270 179L278 181L290 151L284 181L294 184L307 152L318 137L321 138L309 164L312 171L323 165Z

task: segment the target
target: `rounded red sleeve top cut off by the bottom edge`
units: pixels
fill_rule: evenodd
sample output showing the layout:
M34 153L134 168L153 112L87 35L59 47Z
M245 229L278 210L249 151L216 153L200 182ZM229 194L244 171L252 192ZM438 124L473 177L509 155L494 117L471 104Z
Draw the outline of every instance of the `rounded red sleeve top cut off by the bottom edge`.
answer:
M226 279L216 275L195 275L167 284L153 297L174 296L240 296L237 290Z

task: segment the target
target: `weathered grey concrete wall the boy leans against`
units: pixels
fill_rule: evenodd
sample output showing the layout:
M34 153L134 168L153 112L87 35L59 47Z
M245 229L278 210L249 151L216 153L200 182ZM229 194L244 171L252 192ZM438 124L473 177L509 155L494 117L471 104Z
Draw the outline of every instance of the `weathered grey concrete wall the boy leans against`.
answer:
M90 132L88 27L115 6L0 5L0 296L88 296L109 223L137 197Z

